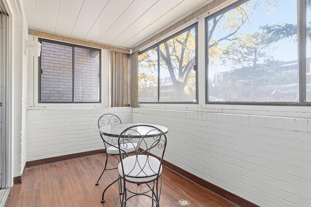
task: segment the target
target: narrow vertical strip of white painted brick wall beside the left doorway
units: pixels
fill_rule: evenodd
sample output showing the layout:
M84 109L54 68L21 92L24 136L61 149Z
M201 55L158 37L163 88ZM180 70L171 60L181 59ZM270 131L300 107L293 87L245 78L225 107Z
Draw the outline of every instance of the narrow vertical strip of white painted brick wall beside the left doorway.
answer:
M18 5L17 5L18 6ZM13 139L13 176L20 176L26 163L26 107L27 107L27 58L23 52L23 16L13 18L13 103L12 104L12 139ZM27 34L25 34L27 35ZM8 82L10 80L7 80ZM9 101L9 100L8 100ZM9 116L7 111L7 116ZM6 123L10 124L10 123Z

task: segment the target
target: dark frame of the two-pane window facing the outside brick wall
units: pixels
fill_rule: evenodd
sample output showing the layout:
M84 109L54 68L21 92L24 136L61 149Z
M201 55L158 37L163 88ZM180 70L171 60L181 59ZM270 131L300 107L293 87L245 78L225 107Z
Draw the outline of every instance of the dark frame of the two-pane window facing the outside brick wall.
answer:
M44 39L44 38L38 38L38 41L42 44L43 42L53 43L53 44L59 44L64 45L72 48L72 101L41 101L41 55L38 58L38 104L99 104L102 103L102 50L99 48L91 48L81 45L75 45L70 44L66 42L60 42L56 40L50 40L50 39ZM89 50L96 50L99 51L99 101L74 101L74 73L75 73L75 48L85 48ZM41 51L42 54L42 51Z

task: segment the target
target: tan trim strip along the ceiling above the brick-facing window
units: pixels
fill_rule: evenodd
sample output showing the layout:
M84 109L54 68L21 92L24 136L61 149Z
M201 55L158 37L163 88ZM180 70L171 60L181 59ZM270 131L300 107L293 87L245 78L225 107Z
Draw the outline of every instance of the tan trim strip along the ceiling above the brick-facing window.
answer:
M110 45L104 45L96 42L90 42L86 40L80 40L72 37L66 37L58 34L52 34L49 32L42 32L42 31L37 31L37 30L32 30L28 29L28 34L34 35L37 37L42 37L42 38L47 38L47 39L52 39L52 40L58 40L61 42L67 42L67 43L72 43L76 45L84 45L88 47L93 47L93 48L101 48L101 49L108 49L111 51L116 51L116 52L122 52L126 54L130 54L130 49L127 48L118 48Z

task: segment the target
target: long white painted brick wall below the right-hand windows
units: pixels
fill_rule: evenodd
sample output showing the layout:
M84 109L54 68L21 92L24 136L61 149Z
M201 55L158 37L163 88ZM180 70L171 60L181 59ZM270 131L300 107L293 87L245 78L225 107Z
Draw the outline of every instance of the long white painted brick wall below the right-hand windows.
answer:
M311 206L311 119L133 109L169 128L165 159L264 207Z

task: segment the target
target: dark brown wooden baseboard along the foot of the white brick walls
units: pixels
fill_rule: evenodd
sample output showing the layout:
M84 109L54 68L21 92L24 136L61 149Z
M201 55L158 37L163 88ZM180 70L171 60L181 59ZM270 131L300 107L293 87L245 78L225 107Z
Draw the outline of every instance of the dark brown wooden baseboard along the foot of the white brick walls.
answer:
M76 154L70 154L70 155L64 155L64 156L59 156L59 157L54 157L54 158L47 158L47 159L38 159L38 160L34 160L34 161L28 161L26 162L26 168L29 167L35 167L35 166L39 166L39 165L44 165L44 164L50 164L53 162L59 162L59 161L65 161L68 159L76 159L76 158L82 158L82 157L86 157L86 156L91 156L91 155L97 155L97 154L101 154L101 153L105 153L106 150L105 149L101 149L101 150L94 150L94 151L88 151L88 152L81 152L81 153L76 153ZM156 156L155 156L156 157ZM167 168L173 170L175 173L185 177L186 179L189 179L190 181L196 183L197 185L202 186L203 188L214 192L215 194L219 195L220 197L224 198L225 200L228 200L229 202L231 202L232 204L237 205L238 207L259 207L258 205L236 195L233 194L229 191L226 191L225 189L222 189L196 175L193 175L187 171L185 171L184 169L166 161L163 160L162 164L164 166L166 166ZM25 175L25 169L23 171L23 174L21 176L17 176L14 177L14 185L16 184L21 184L22 183L22 178L23 175Z

